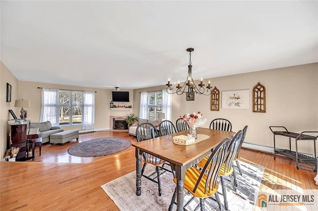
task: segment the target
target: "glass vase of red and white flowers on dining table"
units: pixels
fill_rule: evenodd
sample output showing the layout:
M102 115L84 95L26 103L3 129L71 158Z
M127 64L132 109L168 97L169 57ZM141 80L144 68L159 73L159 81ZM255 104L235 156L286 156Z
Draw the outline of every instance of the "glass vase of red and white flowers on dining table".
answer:
M198 111L197 113L193 112L191 114L187 113L183 116L180 116L184 122L189 126L188 136L198 138L197 128L199 126L205 125L207 119L202 119L202 113Z

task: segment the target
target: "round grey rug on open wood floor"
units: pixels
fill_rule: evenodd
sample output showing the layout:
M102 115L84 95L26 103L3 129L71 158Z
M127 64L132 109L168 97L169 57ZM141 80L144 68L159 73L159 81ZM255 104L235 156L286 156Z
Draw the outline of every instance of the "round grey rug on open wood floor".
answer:
M118 153L127 149L131 142L122 138L99 138L76 144L68 150L72 156L97 157Z

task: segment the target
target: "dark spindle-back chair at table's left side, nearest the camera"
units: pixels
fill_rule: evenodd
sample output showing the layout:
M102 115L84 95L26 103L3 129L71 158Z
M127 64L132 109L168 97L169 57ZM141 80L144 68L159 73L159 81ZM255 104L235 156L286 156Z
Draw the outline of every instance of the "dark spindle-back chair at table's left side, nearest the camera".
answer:
M136 129L137 142L146 141L148 139L152 139L152 138L156 138L156 137L158 137L158 134L157 134L157 130L153 124L146 122L146 123L142 123L142 124L138 125L138 127ZM166 164L165 160L157 158L156 156L153 156L149 153L144 153L143 158L144 158L144 165L143 165L143 168L141 170L141 174L145 178L158 184L158 192L159 192L159 196L161 196L160 175L166 171L169 171L173 174L173 177L174 177L173 170L172 170L171 166L170 166L171 170L164 167L164 164ZM147 163L156 166L156 171L151 173L150 175L144 174Z

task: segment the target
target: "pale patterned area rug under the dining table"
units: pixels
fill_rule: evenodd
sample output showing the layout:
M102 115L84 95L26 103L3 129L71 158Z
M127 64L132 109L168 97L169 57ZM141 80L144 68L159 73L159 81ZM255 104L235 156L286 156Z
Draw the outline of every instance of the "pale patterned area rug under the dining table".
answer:
M237 173L237 192L232 189L231 182L226 181L229 210L252 211L264 169L241 161L240 167L242 175ZM155 171L155 168L151 165L147 165L145 171L149 173ZM160 178L162 188L161 196L158 195L158 185L144 177L142 177L142 194L141 196L136 196L136 171L108 182L102 185L101 188L121 211L167 211L175 189L175 184L172 181L172 174L169 172L165 172ZM223 205L221 182L218 193ZM187 195L187 191L184 191L184 204L190 199L191 195ZM198 204L199 200L195 199L185 209L193 211ZM173 206L173 210L176 210L176 205ZM205 201L205 210L219 211L219 207L215 201L207 199Z

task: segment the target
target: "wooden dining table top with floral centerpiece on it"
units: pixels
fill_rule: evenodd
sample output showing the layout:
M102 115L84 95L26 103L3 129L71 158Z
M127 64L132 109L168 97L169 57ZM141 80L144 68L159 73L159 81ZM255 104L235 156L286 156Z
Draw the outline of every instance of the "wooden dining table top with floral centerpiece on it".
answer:
M183 166L206 154L208 151L211 151L225 138L231 138L235 135L235 132L199 127L197 129L197 133L208 135L210 138L187 146L173 143L174 136L187 135L187 133L187 130L181 131L170 135L160 136L154 139L137 142L132 144L132 146L168 162Z

